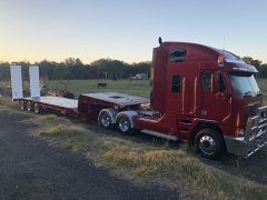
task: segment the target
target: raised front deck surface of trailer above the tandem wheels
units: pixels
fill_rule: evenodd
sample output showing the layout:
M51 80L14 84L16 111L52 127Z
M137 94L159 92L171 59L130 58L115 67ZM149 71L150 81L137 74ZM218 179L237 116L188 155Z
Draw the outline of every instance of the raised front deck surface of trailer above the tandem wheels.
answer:
M99 99L107 102L112 102L120 106L144 104L150 102L148 99L145 98L128 96L118 92L82 93L82 96Z

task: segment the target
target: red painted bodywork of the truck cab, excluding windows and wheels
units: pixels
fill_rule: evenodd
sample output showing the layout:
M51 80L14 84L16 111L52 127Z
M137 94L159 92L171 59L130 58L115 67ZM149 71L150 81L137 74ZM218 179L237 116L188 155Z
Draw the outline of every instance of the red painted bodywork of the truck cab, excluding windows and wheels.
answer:
M187 51L185 62L171 62L170 52L174 49ZM218 66L220 50L195 43L165 42L154 49L151 74L151 107L160 112L161 118L150 119L139 117L140 129L149 129L177 136L179 139L191 140L194 130L200 123L217 126L222 134L237 137L237 130L246 126L248 118L247 104L261 103L261 98L244 99L235 94L227 78L228 71L243 70L255 73L257 70L245 63L225 62ZM227 59L227 57L226 57ZM212 92L202 92L200 74L212 72ZM218 73L224 74L227 92L218 91ZM182 89L172 93L171 76L179 74ZM206 110L207 113L201 113Z

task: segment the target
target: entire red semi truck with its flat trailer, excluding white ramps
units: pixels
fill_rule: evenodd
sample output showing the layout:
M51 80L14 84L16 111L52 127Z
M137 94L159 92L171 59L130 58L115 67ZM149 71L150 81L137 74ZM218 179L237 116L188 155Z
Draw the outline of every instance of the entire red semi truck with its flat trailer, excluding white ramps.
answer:
M267 107L261 107L256 73L255 67L225 50L160 42L154 49L150 101L116 92L80 94L79 100L17 100L21 109L98 120L123 134L139 130L187 140L209 159L225 151L248 158L267 144Z

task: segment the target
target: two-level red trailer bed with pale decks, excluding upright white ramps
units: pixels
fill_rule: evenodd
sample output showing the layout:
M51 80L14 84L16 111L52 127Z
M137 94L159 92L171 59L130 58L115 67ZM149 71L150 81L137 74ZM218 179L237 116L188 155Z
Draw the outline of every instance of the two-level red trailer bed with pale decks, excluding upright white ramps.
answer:
M80 118L81 120L97 120L98 113L106 108L137 108L149 103L148 99L128 96L118 92L85 93L79 100L61 97L38 97L16 99L22 102L22 109L39 112L50 111L65 116ZM36 108L34 108L36 107Z

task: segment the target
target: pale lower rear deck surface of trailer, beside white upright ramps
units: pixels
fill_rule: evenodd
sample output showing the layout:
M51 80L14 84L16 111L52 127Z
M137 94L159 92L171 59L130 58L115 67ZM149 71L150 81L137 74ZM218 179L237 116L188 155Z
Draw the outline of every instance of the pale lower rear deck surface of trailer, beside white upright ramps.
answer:
M51 106L68 108L68 109L77 109L78 108L78 100L75 99L67 99L60 97L40 97L40 98L24 98L29 100L33 100L40 103L47 103Z

